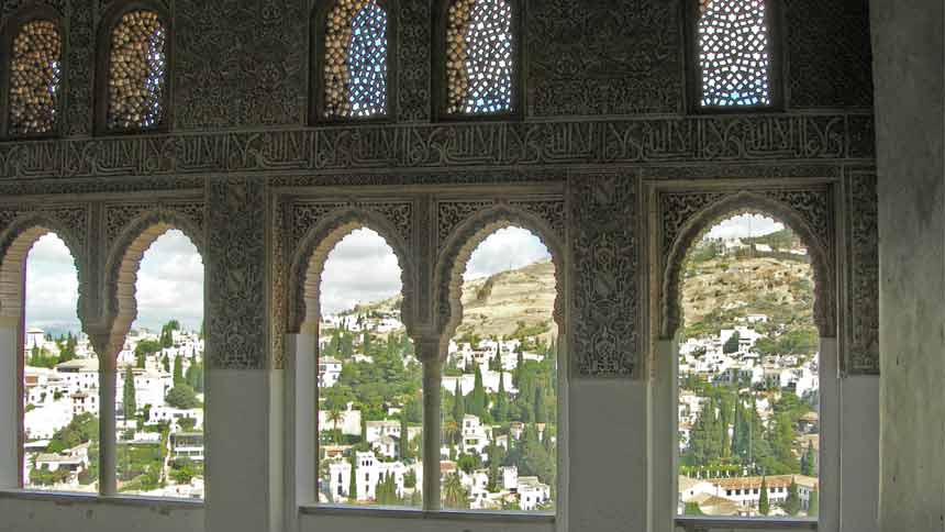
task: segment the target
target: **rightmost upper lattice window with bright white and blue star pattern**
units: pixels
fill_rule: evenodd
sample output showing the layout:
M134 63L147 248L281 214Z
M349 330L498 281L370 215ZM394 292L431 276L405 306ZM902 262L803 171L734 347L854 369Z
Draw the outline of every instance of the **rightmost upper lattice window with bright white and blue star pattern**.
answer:
M697 109L771 109L780 99L777 5L770 0L689 0L690 90Z

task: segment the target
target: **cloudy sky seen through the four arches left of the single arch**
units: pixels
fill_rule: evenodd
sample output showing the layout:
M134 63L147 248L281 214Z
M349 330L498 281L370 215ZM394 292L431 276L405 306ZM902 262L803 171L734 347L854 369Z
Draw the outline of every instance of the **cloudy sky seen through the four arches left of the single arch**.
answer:
M486 277L549 258L531 232L507 228L488 236L472 252L464 278ZM26 324L56 334L79 331L76 315L78 280L65 243L54 234L40 239L26 261ZM133 328L158 330L176 319L199 330L203 317L203 263L180 231L158 237L145 252L135 284L137 320ZM400 292L400 266L383 239L360 229L329 254L322 277L322 312L336 313L357 303Z

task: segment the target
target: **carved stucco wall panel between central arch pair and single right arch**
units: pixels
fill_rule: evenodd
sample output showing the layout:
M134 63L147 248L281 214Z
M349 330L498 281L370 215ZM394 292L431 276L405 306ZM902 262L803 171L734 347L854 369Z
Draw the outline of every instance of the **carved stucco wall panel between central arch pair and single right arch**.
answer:
M640 378L638 181L579 176L569 185L571 370Z

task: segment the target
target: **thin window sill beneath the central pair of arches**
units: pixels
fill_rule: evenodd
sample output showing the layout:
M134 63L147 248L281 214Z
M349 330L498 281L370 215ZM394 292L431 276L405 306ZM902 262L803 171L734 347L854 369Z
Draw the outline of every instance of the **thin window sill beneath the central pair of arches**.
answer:
M364 518L394 518L394 519L425 519L442 521L472 521L472 522L500 522L500 523L554 523L554 513L525 513L518 511L425 511L414 508L396 507L344 507L344 506L303 506L299 508L303 516L348 516Z

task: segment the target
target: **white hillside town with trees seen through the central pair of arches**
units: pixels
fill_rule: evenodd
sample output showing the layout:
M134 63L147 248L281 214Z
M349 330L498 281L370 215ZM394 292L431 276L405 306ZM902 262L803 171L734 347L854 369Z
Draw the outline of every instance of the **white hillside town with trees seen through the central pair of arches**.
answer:
M422 368L398 301L322 320L322 503L422 505ZM549 320L520 321L501 336L467 329L449 343L438 472L444 508L554 511L556 350Z

